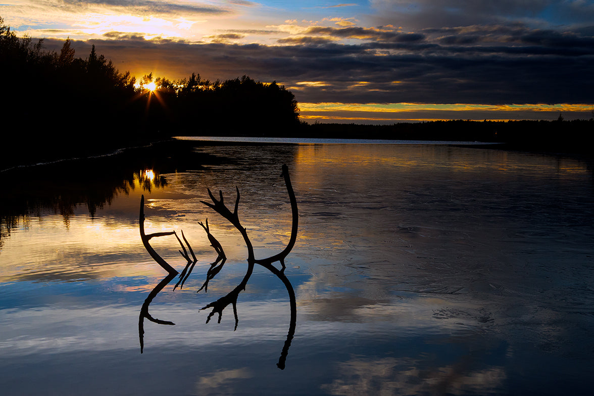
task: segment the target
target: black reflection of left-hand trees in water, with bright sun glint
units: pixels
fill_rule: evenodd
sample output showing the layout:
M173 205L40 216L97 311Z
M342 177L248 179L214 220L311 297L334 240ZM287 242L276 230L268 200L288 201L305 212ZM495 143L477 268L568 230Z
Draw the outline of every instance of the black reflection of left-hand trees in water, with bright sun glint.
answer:
M147 147L128 148L112 156L65 160L43 166L0 172L0 246L12 230L40 213L59 214L68 226L77 207L91 217L118 196L132 191L152 192L167 186L163 173L200 169L217 163L199 154L192 144L166 141ZM198 164L198 165L197 165Z

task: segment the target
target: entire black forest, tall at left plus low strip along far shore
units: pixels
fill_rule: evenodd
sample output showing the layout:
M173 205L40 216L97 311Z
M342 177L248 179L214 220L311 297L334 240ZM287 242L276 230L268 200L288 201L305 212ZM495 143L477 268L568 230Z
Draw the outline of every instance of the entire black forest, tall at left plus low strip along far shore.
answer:
M43 40L17 37L0 18L0 169L102 154L129 145L188 136L269 136L504 142L507 148L592 154L594 119L582 121L437 121L393 125L308 124L295 96L276 82L244 75L170 81L119 72L92 46L75 57ZM159 87L151 90L154 85ZM9 146L10 145L10 146Z

